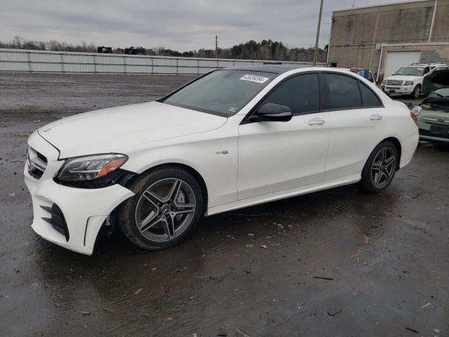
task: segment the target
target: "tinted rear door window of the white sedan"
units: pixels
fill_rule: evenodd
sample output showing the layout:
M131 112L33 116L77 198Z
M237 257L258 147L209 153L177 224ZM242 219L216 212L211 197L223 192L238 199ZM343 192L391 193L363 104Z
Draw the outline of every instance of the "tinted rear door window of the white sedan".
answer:
M329 109L351 109L362 106L356 79L340 74L326 74L326 80L329 89Z

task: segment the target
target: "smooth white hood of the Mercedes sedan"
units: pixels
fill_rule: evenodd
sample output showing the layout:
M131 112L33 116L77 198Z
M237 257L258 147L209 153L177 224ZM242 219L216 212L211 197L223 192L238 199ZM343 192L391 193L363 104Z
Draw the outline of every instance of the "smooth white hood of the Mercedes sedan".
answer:
M120 152L134 145L219 128L227 118L159 102L85 112L39 128L60 159Z

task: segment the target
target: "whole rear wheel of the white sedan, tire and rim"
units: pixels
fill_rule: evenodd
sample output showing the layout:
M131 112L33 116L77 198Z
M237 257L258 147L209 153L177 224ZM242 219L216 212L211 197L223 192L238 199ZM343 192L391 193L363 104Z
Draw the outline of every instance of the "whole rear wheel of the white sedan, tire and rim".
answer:
M386 189L394 178L397 162L398 150L393 143L384 141L377 145L363 167L361 189L373 194Z

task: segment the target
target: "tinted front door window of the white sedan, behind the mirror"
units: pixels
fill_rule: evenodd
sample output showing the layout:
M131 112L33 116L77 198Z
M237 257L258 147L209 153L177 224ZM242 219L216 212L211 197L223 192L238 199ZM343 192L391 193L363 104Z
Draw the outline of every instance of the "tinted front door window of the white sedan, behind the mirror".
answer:
M302 74L280 84L262 102L286 105L292 114L319 111L320 96L318 74Z

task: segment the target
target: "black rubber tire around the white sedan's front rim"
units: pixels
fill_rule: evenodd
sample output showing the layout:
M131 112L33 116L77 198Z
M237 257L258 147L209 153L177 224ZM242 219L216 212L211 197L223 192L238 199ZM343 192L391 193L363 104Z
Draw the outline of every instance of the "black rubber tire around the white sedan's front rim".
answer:
M181 180L191 187L194 194L194 199L196 201L195 211L192 212L192 219L181 234L173 239L169 239L169 241L157 242L148 239L140 232L140 230L138 230L135 216L136 206L138 206L138 201L147 188L161 180L172 178ZM161 166L160 168L143 173L142 176L135 178L135 180L133 180L130 185L126 187L135 192L135 196L123 201L123 203L119 206L117 209L116 223L121 232L125 234L130 242L133 242L133 244L142 249L159 250L180 244L180 242L184 241L189 234L192 234L196 223L198 223L199 218L203 215L203 195L201 193L201 186L192 174L185 169L181 169L180 167Z

